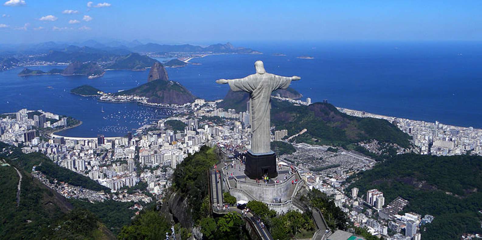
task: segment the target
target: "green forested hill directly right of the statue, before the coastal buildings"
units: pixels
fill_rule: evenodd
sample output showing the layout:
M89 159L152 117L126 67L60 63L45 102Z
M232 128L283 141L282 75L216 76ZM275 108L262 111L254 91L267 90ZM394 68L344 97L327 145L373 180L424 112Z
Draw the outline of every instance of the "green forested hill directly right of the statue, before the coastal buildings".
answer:
M276 130L287 129L297 143L324 144L346 147L348 144L375 139L382 143L409 147L410 136L387 120L358 118L339 112L329 103L313 103L310 106L293 106L272 100L271 123Z

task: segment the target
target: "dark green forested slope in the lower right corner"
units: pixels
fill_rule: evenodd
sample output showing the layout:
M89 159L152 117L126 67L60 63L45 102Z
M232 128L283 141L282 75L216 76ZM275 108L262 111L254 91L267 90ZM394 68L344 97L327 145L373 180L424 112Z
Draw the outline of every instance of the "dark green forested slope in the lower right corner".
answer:
M482 233L482 157L404 154L348 179L349 189L378 189L385 203L397 196L410 203L404 212L435 216L423 226L422 238L458 239L462 233ZM348 191L349 191L348 189Z

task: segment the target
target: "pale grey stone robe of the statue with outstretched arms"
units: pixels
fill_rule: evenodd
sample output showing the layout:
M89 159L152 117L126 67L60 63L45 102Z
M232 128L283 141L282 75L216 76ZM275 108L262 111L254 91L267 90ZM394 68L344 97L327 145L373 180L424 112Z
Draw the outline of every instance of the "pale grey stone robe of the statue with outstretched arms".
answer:
M291 77L271 73L255 73L241 79L228 80L232 91L250 93L251 151L254 154L271 152L270 149L270 110L271 92L286 89L291 84Z

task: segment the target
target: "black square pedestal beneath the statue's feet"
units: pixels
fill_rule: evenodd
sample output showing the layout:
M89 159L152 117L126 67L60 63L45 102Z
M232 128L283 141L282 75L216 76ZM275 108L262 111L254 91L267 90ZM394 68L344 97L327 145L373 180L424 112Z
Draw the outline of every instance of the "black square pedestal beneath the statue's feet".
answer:
M251 150L248 150L245 165L244 174L250 179L261 180L265 174L267 174L270 179L278 176L276 154L273 151L255 154L252 153Z

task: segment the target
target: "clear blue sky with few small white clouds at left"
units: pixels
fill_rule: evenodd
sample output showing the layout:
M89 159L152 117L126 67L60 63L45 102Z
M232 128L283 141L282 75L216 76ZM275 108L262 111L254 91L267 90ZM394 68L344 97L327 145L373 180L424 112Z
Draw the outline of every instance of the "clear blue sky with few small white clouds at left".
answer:
M1 1L0 43L482 40L481 0Z

